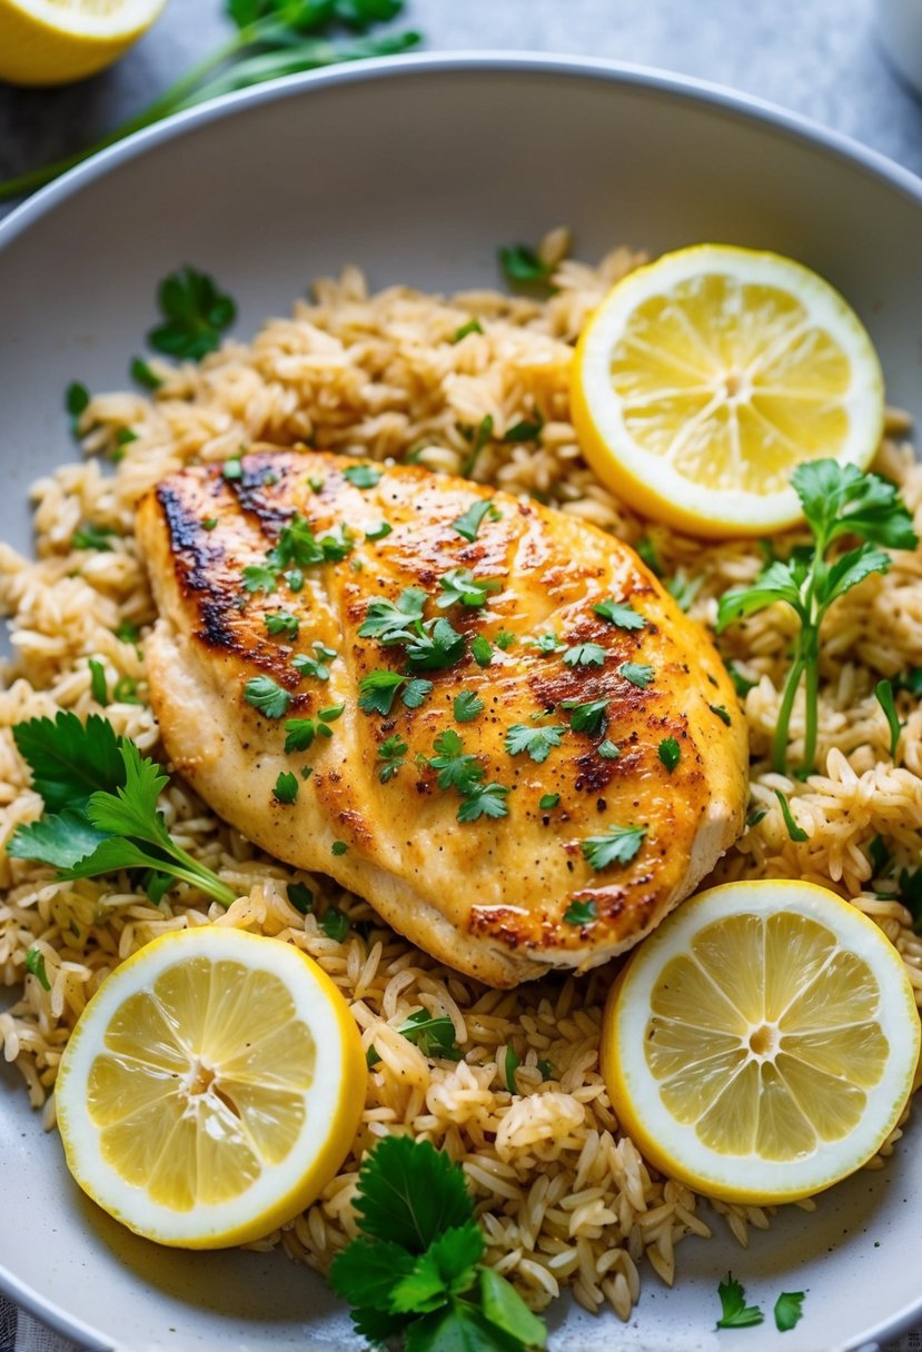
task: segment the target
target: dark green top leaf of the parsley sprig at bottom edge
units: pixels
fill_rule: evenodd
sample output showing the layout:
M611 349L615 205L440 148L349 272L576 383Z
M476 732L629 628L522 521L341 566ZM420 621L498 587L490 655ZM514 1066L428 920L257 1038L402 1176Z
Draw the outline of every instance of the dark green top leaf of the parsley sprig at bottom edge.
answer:
M414 1255L473 1220L464 1172L429 1141L406 1136L384 1137L365 1159L354 1205L365 1234Z

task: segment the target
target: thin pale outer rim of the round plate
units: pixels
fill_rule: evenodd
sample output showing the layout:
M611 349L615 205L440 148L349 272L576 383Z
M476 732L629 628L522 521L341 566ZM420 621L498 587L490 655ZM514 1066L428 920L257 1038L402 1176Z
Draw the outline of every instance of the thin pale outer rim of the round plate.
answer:
M865 146L845 132L826 127L799 112L792 112L769 100L742 93L715 81L684 76L658 66L531 50L472 50L424 51L406 55L373 57L322 70L303 72L266 81L256 88L235 91L208 100L184 112L137 131L82 164L61 174L53 183L26 197L0 219L0 253L45 216L62 208L68 201L91 188L93 183L115 173L124 164L142 158L147 151L166 145L197 128L246 114L250 108L288 99L310 96L315 91L379 80L400 80L416 76L446 76L452 73L493 73L506 76L552 76L575 82L591 81L633 88L664 96L669 100L706 107L729 116L734 122L768 128L788 141L857 168L871 178L885 184L922 208L922 178L896 164L885 154ZM69 1314L50 1297L39 1294L0 1264L0 1293L32 1318L54 1329L62 1337L76 1341L88 1352L111 1352L115 1344L82 1320ZM867 1329L849 1348L873 1348L879 1340L898 1337L918 1324L922 1317L922 1294L918 1301ZM842 1344L845 1347L845 1344Z

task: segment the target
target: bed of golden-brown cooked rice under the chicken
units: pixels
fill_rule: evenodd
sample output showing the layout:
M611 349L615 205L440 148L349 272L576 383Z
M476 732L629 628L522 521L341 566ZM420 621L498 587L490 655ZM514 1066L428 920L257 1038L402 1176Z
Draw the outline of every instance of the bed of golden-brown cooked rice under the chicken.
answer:
M299 301L291 319L272 320L249 346L226 343L200 366L154 362L164 384L153 402L138 393L93 399L80 430L95 457L35 485L37 561L0 546L0 604L12 617L15 646L0 691L0 842L41 811L9 727L58 708L81 717L96 708L89 657L103 662L110 690L123 677L137 681L138 702L110 703L105 713L119 731L157 752L142 649L114 631L123 621L145 626L153 619L132 538L138 496L191 460L223 460L266 439L376 460L412 457L434 470L458 472L489 415L492 434L473 477L539 495L629 542L646 535L666 577L696 580L696 618L712 623L721 592L760 572L757 544L702 545L648 526L585 468L568 415L572 342L600 295L642 258L616 249L592 269L566 257L562 230L541 249L556 265L557 289L548 301L493 292L445 300L402 287L369 296L362 274L347 268L337 281L319 281L311 303ZM453 342L472 316L483 333ZM538 439L503 442L510 426L534 418L535 407L545 418ZM119 445L126 427L137 439ZM914 465L906 434L906 419L891 414L876 468L900 481L919 527L922 466ZM115 472L104 472L100 458L115 460ZM111 549L74 550L72 537L85 523L111 527ZM873 685L922 665L922 553L896 554L885 577L871 577L834 607L823 634L822 772L806 783L772 773L767 758L792 630L792 615L773 607L722 639L725 656L757 681L745 708L753 807L764 815L714 880L795 876L834 888L894 941L922 1003L922 938L902 904L877 898L894 884L875 879L869 861L869 844L881 836L898 868L919 863L922 710L908 695L899 696L907 723L894 763ZM796 764L798 711L792 729ZM776 788L790 796L808 831L806 842L790 840ZM749 1226L768 1225L760 1207L703 1207L688 1188L648 1168L621 1134L598 1065L610 969L516 991L487 990L431 961L362 900L310 877L318 896L337 902L353 921L337 942L312 914L300 915L287 900L287 883L304 875L260 856L178 779L162 806L177 840L238 888L241 899L228 911L185 886L153 906L124 877L51 882L47 869L5 853L0 859L0 980L24 983L22 998L0 1013L0 1045L22 1071L31 1102L45 1105L49 1125L61 1051L107 973L165 930L235 925L315 957L349 1000L365 1044L373 1038L381 1056L341 1174L265 1247L278 1244L326 1270L356 1233L350 1198L358 1160L392 1130L427 1137L462 1163L488 1236L488 1260L535 1307L571 1287L588 1309L608 1303L626 1320L645 1260L672 1283L676 1242L688 1233L710 1234L715 1214L742 1244ZM31 946L45 959L49 991L24 972ZM450 1015L464 1060L430 1061L396 1032L420 1006ZM522 1059L515 1096L502 1069L507 1046ZM550 1063L550 1079L542 1079L538 1061ZM899 1134L881 1153L890 1153Z

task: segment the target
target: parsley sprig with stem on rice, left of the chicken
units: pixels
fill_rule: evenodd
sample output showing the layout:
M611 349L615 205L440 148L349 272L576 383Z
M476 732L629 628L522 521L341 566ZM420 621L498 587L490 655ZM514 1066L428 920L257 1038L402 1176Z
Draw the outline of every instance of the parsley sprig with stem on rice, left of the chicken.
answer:
M178 879L230 906L237 892L181 849L158 811L169 775L142 756L127 737L97 714L81 723L76 714L31 718L12 729L16 748L32 772L45 814L18 826L7 853L50 864L58 877L99 877L142 869L160 880Z

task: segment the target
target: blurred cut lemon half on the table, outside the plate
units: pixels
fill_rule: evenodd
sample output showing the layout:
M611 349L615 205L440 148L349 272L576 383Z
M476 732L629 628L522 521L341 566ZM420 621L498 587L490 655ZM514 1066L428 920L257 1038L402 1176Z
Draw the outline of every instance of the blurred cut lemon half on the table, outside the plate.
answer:
M165 0L0 0L0 80L68 84L103 70L150 28Z

